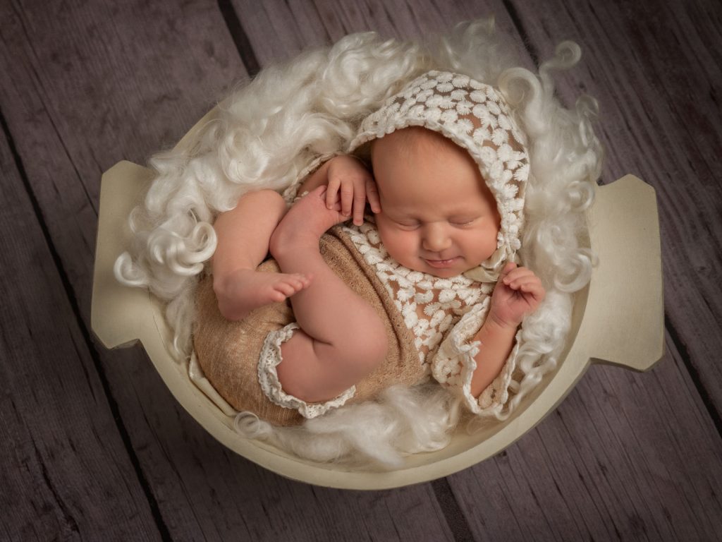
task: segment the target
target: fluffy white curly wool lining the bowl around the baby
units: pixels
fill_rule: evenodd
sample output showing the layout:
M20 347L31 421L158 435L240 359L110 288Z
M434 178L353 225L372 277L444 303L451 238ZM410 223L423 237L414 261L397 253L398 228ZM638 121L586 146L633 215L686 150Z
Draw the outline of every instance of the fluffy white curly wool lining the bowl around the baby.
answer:
M349 35L267 67L223 100L217 118L191 141L150 160L157 175L131 214L132 244L116 261L116 278L167 303L176 357L187 361L195 288L216 247L212 223L219 213L249 191L283 192L303 180L314 161L344 152L360 121L419 74L439 69L469 75L500 90L528 137L531 173L520 255L547 289L522 326L512 398L487 424L505 420L555 368L570 329L572 293L590 280L584 213L602 156L591 128L596 101L582 96L567 109L554 97L552 72L576 64L580 48L560 43L538 74L519 67L512 50L492 20L479 20L424 43ZM310 460L394 468L406 454L448 444L460 410L442 387L425 384L393 387L377 400L300 427L271 426L251 413L240 413L235 427Z

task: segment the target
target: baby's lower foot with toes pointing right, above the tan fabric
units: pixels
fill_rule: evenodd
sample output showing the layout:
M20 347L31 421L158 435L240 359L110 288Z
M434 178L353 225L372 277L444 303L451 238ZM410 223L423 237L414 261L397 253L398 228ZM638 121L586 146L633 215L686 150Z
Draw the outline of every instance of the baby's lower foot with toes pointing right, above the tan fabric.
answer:
M240 320L253 309L285 298L308 288L311 281L300 273L260 272L242 269L219 285L216 295L218 309L229 320Z

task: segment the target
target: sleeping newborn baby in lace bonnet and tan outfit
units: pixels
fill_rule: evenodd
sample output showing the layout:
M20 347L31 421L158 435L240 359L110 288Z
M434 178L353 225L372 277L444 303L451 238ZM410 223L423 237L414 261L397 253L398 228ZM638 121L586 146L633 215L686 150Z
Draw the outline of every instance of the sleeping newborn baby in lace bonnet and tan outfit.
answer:
M362 122L350 152L292 205L250 192L214 223L193 332L206 377L279 425L430 376L474 413L505 403L518 327L544 288L516 264L529 165L503 98L427 72Z

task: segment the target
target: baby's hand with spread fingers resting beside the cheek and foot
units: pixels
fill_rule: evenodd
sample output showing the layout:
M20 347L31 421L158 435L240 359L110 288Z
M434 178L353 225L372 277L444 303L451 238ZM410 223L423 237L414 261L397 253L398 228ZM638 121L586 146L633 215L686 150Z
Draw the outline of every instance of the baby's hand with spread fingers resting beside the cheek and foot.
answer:
M354 224L363 223L363 213L368 199L373 212L380 212L378 189L370 171L352 156L336 156L329 163L329 187L326 190L326 207L333 209L341 199L341 213L350 217Z

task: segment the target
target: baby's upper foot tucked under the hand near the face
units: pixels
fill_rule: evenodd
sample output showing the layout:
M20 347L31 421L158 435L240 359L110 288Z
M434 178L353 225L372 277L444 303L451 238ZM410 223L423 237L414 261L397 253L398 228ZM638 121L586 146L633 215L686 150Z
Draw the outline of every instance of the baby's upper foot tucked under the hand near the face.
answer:
M276 226L269 243L271 254L278 259L287 249L318 249L323 233L344 220L349 217L341 214L341 203L332 209L326 207L326 186L319 186L295 203Z

